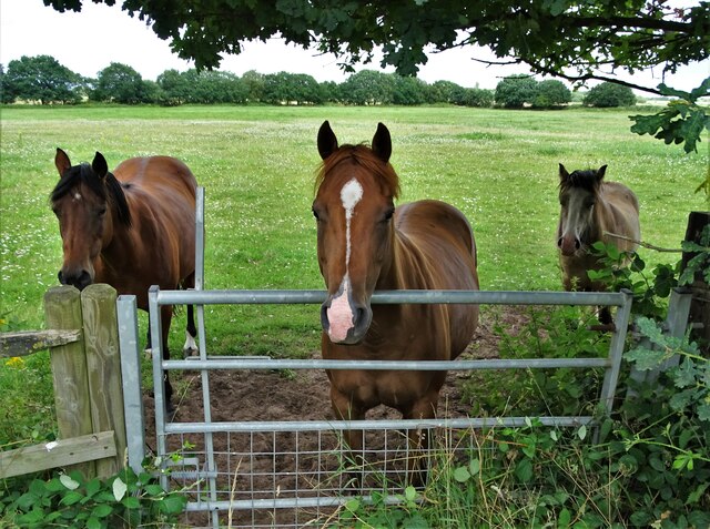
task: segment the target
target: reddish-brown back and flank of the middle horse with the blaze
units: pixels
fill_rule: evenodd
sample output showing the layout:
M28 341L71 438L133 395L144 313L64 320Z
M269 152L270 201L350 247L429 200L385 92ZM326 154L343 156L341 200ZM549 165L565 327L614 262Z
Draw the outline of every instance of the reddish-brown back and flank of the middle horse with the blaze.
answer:
M439 201L413 202L397 207L396 227L410 251L407 288L478 289L476 242L459 210ZM446 313L450 357L456 358L473 338L478 306L450 304L438 309Z

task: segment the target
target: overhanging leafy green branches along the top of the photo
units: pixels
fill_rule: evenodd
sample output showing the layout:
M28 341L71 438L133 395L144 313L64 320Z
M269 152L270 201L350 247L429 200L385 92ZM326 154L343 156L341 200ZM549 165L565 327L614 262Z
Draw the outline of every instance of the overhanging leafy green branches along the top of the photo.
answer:
M116 0L93 0L114 4ZM63 12L80 11L89 0L44 0ZM575 83L613 81L660 95L684 99L689 104L673 112L659 112L643 120L635 116L635 131L684 143L696 151L698 131L710 126L710 114L698 91L681 92L670 87L636 84L610 77L625 70L631 74L657 69L661 75L681 65L700 64L710 58L708 1L661 0L459 0L387 2L308 2L282 0L122 0L130 16L151 23L162 39L199 69L219 67L224 53L236 54L250 40L278 35L302 48L316 45L334 53L343 68L369 62L382 52L381 64L394 65L403 75L416 74L427 62L426 51L443 51L477 44L488 47L498 59L514 58L532 72L555 75ZM672 115L671 115L672 114ZM669 121L670 120L670 121ZM672 124L687 122L682 126ZM698 126L698 124L700 124ZM656 126L656 129L653 129ZM660 129L661 136L657 135ZM710 175L708 176L710 182ZM710 189L710 183L708 183Z

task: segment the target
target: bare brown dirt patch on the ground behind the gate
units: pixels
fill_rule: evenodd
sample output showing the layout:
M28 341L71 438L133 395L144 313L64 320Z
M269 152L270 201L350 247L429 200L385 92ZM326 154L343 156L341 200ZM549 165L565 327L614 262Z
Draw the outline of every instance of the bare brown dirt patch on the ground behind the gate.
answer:
M470 346L462 359L495 358L500 337L494 333L496 324L510 333L525 324L527 317L518 307L484 311L480 324ZM320 352L313 352L314 358ZM203 387L200 373L178 374L175 387L185 390L180 395L176 423L204 421ZM449 372L439 399L439 416L466 417L470 405L462 393L465 372ZM178 383L182 377L183 383ZM335 420L331 409L329 384L324 370L276 373L264 370L211 370L209 372L212 421L292 421ZM155 446L154 401L144 397L146 439ZM396 410L384 406L371 410L367 419L398 419ZM272 498L333 497L347 491L352 472L344 471L344 460L337 431L287 431L280 428L248 431L219 433L212 435L214 447L214 479L216 499L234 505L261 505L263 508L235 508L232 527L303 527L314 519L324 520L333 512L326 508L276 509ZM205 477L209 458L206 438L202 434L166 437L168 449L180 454L174 467L171 487L192 485L195 476ZM364 487L382 490L400 487L404 481L407 458L406 436L394 430L365 433L365 459L367 475ZM385 457L386 452L386 457ZM362 470L362 469L361 469ZM386 481L386 482L385 482ZM399 488L400 490L400 488ZM191 501L207 499L206 481L193 486ZM214 497L213 497L214 499ZM242 501L242 503L240 503ZM273 502L272 502L273 503ZM221 523L229 523L227 515L220 515ZM186 513L183 520L193 527L209 525L204 512Z

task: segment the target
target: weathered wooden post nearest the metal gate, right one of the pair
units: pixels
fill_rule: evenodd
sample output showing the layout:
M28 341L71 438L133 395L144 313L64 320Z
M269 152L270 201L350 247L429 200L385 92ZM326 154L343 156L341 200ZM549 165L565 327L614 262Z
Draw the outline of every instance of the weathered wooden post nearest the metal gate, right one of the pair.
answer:
M126 446L115 301L115 289L106 284L89 285L81 293L93 433L115 433L116 457L97 460L101 478L123 468Z

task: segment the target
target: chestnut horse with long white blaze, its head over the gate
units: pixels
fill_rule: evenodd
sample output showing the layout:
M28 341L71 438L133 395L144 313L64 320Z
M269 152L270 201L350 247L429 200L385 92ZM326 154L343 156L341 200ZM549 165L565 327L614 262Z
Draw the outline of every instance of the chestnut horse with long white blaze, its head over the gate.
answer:
M476 245L466 217L427 200L395 208L398 176L389 164L392 140L382 123L366 145L338 146L328 122L318 131L323 163L313 214L327 299L321 307L326 359L449 360L470 343L478 323L474 305L375 305L375 289L478 289ZM364 419L384 404L406 419L436 415L445 372L328 370L337 417ZM344 434L352 452L362 430ZM425 433L409 433L415 451ZM408 475L424 480L423 457L409 458Z

